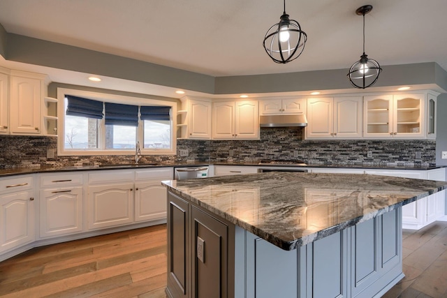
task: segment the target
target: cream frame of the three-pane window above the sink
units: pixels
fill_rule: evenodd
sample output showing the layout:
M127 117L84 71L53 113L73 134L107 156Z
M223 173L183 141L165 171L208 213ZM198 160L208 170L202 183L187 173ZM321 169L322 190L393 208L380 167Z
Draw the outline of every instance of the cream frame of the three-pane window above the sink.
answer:
M164 105L171 108L171 149L141 149L142 155L175 155L177 154L177 102L168 100L156 100L151 98L138 98L133 96L122 96L118 94L107 94L94 91L78 89L57 88L57 154L58 156L107 156L107 155L135 155L135 150L105 149L105 121L101 119L98 128L98 149L66 149L65 142L65 96L79 96L91 100L99 100L105 103L121 103L124 105ZM138 120L137 140L143 144L143 121Z

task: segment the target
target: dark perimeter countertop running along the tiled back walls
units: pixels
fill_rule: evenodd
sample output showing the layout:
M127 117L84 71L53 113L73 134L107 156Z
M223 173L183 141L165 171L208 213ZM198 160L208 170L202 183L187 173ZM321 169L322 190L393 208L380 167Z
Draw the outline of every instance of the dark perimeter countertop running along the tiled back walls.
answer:
M15 176L20 174L36 174L36 173L47 173L47 172L73 172L73 171L91 171L91 170L119 170L119 169L144 169L144 168L154 168L154 167L194 167L203 165L245 165L245 166L256 166L256 167L290 167L290 165L259 165L256 163L247 162L206 162L206 161L195 161L195 162L184 162L184 163L159 163L157 165L141 163L138 165L83 165L83 166L70 166L70 167L10 167L10 168L0 168L0 178ZM446 166L413 166L413 165L306 165L306 166L293 166L293 167L332 167L340 169L377 169L377 170L434 170Z

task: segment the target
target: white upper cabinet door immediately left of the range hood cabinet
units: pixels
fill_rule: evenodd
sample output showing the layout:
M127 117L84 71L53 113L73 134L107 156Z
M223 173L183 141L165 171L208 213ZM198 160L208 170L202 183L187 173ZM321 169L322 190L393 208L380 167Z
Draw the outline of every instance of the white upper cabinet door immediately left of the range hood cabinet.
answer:
M257 101L236 102L235 137L237 139L259 138L259 117Z

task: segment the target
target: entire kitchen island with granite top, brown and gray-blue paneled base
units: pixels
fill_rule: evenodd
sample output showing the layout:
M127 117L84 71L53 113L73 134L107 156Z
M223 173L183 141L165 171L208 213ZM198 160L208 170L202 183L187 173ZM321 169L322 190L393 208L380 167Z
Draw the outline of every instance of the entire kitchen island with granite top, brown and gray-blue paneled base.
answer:
M270 172L163 181L169 297L381 297L402 273L402 206L446 182Z

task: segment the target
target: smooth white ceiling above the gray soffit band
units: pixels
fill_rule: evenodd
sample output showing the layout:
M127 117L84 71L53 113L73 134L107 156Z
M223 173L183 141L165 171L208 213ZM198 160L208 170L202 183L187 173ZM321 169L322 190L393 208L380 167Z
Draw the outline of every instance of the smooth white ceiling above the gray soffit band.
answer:
M383 66L434 61L447 70L446 0L288 0L286 13L308 36L289 64L275 64L262 46L279 22L281 0L0 0L0 24L9 33L212 76L347 72L362 54L355 10L365 4L374 7L365 17L369 58ZM80 84L79 73L40 69L53 81Z

